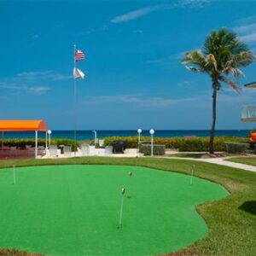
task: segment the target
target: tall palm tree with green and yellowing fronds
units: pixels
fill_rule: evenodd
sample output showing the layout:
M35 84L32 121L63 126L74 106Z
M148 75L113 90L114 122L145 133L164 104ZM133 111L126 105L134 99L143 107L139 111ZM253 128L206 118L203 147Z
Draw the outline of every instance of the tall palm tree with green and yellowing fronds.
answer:
M241 67L246 67L255 60L253 52L247 49L235 32L227 29L213 31L206 39L202 50L185 54L183 64L189 71L207 73L212 80L212 131L209 153L214 154L217 92L222 84L228 84L232 90L239 92L238 78L243 75ZM234 80L231 80L233 78Z

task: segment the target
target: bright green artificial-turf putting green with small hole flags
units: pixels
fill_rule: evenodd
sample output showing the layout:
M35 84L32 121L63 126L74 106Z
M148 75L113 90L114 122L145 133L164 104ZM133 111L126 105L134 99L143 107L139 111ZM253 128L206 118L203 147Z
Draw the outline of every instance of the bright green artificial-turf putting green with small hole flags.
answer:
M132 177L129 176L132 172ZM0 171L0 247L50 255L148 255L207 234L195 206L216 183L137 166L37 166ZM123 227L117 229L125 186Z

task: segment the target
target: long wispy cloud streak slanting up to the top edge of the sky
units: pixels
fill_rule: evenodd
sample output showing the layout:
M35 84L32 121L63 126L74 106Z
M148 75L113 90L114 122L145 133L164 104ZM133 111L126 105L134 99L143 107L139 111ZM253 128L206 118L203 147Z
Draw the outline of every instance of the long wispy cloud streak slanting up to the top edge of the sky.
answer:
M203 4L207 3L207 1L204 0L182 0L177 1L176 3L162 3L162 4L156 4L153 6L148 6L142 9L136 9L131 12L125 13L124 15L117 15L113 17L111 20L112 23L121 23L121 22L127 22L130 20L136 20L140 17L143 17L145 15L149 15L150 13L153 13L160 9L174 9L178 7L189 7L189 8L201 8L203 7Z

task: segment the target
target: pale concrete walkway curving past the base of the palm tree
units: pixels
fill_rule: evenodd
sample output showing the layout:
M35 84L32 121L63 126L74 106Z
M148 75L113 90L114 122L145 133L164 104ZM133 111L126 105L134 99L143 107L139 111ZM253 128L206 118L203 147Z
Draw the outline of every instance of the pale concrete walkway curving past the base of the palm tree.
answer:
M235 162L227 161L227 159L231 159L231 157L219 157L219 158L207 158L207 159L195 159L195 158L183 158L183 157L168 157L169 159L179 159L179 160L195 160L201 162L207 162L211 164L216 164L220 166L230 166L233 168L238 168L242 170L246 170L249 172L256 172L256 166L249 166L244 164L239 164Z

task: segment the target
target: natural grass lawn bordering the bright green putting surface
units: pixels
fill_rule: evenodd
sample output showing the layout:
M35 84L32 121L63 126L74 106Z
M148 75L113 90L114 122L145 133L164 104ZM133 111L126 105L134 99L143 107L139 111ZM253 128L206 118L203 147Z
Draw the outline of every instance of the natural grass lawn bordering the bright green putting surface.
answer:
M195 176L224 185L230 191L230 195L218 201L198 205L196 209L206 220L209 229L207 236L177 253L170 253L170 255L254 255L256 252L256 174L253 172L191 160L151 158L91 157L63 160L5 160L0 162L2 168L13 164L17 166L69 164L146 166L187 174L190 173L191 166L195 164ZM3 172L5 171L3 170ZM152 186L155 185L152 184ZM170 218L172 218L171 213ZM4 249L1 252L3 255L8 255L8 253L9 255L22 255Z

